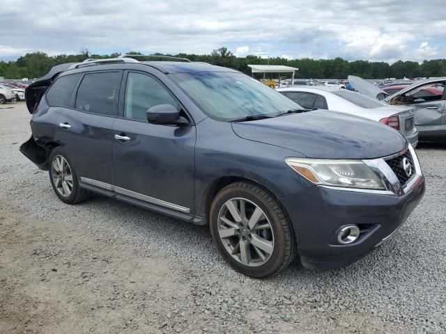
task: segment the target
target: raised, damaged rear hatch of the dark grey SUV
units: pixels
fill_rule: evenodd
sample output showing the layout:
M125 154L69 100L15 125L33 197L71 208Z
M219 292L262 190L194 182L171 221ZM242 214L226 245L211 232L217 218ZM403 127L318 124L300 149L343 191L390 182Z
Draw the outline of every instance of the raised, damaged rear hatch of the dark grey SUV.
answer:
M62 72L68 70L68 68L73 64L75 63L66 63L52 67L47 74L26 88L25 101L26 108L28 108L29 113L34 113L34 111L36 111L43 94L47 91L54 79L56 79L56 77Z

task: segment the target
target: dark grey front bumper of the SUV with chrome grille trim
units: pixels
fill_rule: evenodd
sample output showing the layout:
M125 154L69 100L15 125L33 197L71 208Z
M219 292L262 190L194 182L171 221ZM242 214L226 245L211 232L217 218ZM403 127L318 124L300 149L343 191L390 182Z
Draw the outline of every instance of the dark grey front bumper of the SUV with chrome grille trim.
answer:
M383 159L366 162L383 173L389 191L312 186L279 198L291 218L302 265L309 269L346 267L380 246L406 221L422 199L424 177L413 148L415 175L401 186ZM345 225L357 225L360 237L340 244L337 234Z

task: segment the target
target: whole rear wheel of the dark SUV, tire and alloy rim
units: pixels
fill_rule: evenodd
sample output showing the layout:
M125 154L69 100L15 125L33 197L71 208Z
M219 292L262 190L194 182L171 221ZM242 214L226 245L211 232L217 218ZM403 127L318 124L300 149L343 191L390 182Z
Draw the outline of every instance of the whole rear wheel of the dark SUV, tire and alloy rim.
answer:
M48 161L49 180L62 202L76 204L89 197L89 191L79 186L76 170L61 148L54 148Z

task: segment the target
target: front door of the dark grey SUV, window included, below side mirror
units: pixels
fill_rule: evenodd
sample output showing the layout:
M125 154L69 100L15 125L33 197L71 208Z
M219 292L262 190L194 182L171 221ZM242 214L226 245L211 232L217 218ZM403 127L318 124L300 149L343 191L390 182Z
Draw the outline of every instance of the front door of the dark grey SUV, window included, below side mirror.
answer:
M145 72L125 72L120 117L113 127L115 190L189 213L194 207L195 126L148 123L147 109L159 104L171 104L184 111L157 77ZM187 114L184 116L192 120Z

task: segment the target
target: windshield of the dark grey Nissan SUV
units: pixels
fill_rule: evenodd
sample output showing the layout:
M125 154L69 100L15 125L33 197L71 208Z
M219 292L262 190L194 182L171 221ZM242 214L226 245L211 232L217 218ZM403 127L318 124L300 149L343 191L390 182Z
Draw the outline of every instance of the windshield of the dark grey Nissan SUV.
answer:
M169 77L203 113L217 120L273 117L291 109L302 109L284 95L241 73L174 73Z

